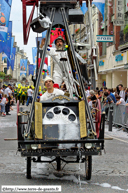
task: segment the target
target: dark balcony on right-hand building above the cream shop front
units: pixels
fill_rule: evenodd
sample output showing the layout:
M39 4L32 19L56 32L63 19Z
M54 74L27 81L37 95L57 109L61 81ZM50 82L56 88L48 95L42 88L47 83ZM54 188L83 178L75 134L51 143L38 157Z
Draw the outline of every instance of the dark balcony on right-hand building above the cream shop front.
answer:
M120 31L120 43L119 48L121 52L128 50L128 33L124 34L123 30Z

